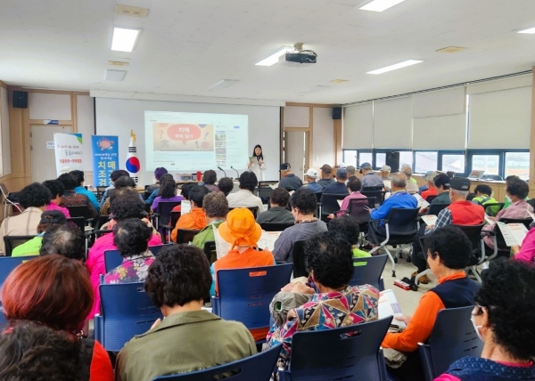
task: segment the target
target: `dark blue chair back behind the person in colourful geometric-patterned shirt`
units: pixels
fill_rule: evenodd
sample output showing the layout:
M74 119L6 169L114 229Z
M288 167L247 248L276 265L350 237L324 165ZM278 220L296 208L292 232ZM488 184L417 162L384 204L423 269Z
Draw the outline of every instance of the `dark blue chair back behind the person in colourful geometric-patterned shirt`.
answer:
M387 381L381 343L392 317L350 327L296 332L281 381ZM351 335L351 336L348 336Z

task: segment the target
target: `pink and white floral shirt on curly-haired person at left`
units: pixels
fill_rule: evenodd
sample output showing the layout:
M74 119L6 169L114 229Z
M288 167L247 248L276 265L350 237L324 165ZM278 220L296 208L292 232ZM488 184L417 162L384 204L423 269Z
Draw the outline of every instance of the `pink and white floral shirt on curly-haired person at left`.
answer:
M148 250L143 254L127 256L123 263L104 275L104 284L143 282L154 259Z

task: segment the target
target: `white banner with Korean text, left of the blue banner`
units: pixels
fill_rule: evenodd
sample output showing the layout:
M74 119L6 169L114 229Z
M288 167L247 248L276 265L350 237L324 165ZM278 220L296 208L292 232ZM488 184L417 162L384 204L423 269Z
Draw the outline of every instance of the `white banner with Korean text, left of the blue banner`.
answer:
M53 134L55 146L56 172L61 174L63 168L68 167L84 170L82 134Z

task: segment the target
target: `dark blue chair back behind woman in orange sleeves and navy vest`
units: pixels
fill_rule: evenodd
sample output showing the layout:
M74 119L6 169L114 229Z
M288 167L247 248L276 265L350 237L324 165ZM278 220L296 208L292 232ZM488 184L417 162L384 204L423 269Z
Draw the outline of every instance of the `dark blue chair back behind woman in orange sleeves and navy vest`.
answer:
M426 381L432 381L465 356L480 357L483 342L470 321L473 305L439 312L427 344L418 343Z

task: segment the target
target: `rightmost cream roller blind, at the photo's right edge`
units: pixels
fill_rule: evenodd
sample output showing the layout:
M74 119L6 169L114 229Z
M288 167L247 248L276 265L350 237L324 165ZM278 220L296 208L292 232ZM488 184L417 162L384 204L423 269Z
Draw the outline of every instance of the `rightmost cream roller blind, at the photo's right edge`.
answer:
M531 86L470 95L468 148L530 148Z

